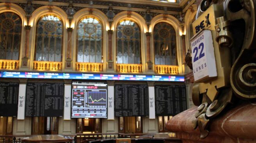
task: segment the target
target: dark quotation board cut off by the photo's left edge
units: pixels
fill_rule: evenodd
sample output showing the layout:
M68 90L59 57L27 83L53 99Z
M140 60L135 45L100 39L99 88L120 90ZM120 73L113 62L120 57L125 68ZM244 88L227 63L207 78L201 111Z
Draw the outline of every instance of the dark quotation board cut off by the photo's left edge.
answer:
M0 116L17 116L18 94L18 82L0 82Z

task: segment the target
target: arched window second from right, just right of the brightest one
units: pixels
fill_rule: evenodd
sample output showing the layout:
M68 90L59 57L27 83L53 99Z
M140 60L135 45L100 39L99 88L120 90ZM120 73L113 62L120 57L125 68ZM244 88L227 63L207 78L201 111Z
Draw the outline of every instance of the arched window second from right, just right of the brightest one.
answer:
M131 20L117 24L117 63L140 64L140 28Z

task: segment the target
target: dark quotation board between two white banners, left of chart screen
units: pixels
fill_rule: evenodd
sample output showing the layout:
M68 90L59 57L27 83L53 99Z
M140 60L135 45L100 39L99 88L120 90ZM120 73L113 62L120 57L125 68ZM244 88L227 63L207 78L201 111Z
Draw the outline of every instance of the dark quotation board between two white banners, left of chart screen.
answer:
M62 83L27 83L27 117L60 117L63 115Z

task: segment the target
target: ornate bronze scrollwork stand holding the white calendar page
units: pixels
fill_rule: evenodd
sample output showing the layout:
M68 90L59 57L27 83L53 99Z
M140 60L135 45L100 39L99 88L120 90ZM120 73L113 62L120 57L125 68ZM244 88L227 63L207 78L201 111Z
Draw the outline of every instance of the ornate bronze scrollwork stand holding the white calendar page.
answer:
M216 17L210 19L207 14ZM202 0L199 5L196 18L203 26L195 21L193 28L212 31L218 72L218 77L192 87L192 100L198 106L193 124L194 129L199 128L201 139L208 136L211 121L233 108L233 103L256 99L255 14L255 0ZM186 58L190 63L190 53Z

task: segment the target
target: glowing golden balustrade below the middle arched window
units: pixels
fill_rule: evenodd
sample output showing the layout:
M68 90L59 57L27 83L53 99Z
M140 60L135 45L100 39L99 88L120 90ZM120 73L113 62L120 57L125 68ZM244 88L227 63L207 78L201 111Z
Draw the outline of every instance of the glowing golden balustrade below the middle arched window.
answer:
M103 71L103 63L78 63L78 62L76 62L76 71L102 72Z

